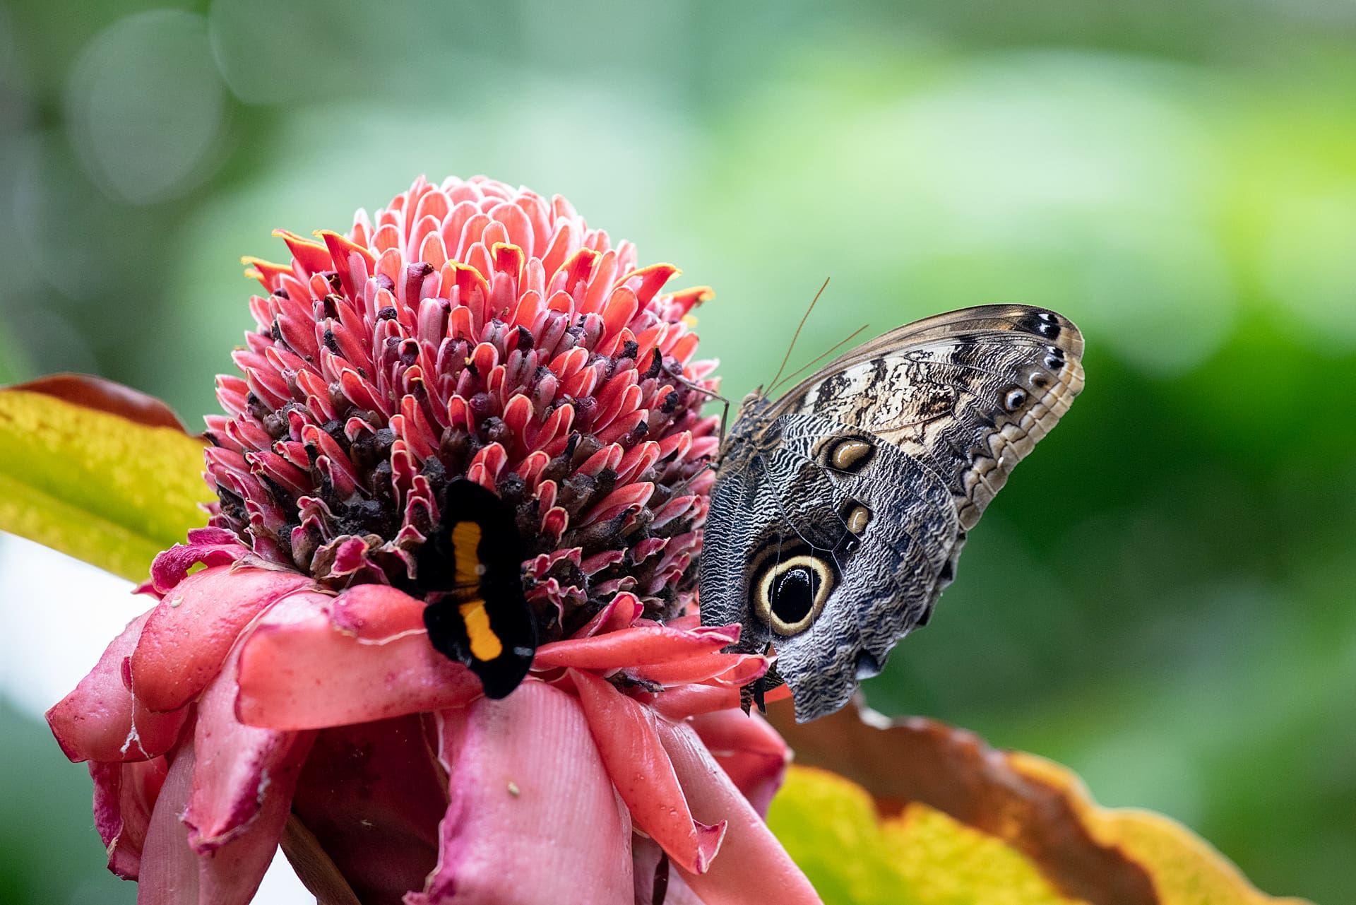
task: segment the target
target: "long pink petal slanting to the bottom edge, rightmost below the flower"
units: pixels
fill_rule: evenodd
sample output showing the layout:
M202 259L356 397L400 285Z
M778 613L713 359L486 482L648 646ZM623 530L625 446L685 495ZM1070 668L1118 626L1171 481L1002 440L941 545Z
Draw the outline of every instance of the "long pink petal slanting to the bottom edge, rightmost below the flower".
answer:
M697 731L666 720L659 720L656 729L693 817L730 821L720 858L705 874L678 868L701 901L743 905L749 901L749 878L757 877L758 901L822 905L810 881L701 744Z

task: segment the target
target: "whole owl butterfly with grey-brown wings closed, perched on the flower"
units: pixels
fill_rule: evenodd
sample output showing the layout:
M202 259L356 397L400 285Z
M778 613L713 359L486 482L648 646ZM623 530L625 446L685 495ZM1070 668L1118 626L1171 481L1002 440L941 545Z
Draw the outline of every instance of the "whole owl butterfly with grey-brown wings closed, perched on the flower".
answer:
M776 402L755 391L720 449L701 619L776 654L796 720L842 707L928 623L965 532L1083 387L1069 319L983 305L892 330Z

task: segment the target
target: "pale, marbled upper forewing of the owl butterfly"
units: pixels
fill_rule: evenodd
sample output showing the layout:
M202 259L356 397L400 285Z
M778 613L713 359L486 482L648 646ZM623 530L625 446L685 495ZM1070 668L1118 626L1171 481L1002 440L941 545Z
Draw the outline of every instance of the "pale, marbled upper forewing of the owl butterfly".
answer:
M1083 339L1067 317L983 305L873 339L792 388L773 414L869 430L949 486L968 529L1083 387Z

